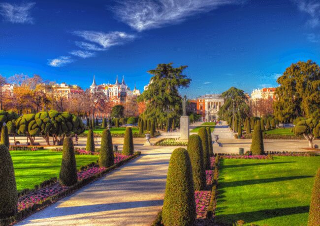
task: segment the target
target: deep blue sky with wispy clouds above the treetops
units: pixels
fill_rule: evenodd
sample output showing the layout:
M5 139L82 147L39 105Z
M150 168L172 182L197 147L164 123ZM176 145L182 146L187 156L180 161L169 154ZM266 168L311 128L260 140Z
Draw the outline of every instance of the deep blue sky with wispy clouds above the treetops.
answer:
M318 0L0 0L0 74L143 89L158 63L188 65L182 95L276 86L320 63Z

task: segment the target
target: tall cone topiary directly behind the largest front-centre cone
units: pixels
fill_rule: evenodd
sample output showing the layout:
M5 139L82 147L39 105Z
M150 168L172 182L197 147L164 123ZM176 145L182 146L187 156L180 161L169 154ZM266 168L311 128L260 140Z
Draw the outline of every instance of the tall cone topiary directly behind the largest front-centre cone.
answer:
M192 166L194 190L204 190L206 187L206 171L203 165L203 148L200 137L193 134L189 137L187 151Z

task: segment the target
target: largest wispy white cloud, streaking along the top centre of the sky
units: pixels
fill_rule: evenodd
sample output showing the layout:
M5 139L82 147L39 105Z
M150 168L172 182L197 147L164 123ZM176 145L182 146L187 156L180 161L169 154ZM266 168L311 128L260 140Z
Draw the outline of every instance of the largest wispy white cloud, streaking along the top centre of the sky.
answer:
M126 0L111 9L117 19L138 31L178 24L197 13L244 0Z

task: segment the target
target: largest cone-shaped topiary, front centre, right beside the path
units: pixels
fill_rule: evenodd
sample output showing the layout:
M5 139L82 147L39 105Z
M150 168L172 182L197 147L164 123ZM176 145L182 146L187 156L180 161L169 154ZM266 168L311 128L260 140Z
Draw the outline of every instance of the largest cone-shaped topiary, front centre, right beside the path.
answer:
M187 150L180 147L169 162L162 220L165 226L194 226L195 219L191 162Z

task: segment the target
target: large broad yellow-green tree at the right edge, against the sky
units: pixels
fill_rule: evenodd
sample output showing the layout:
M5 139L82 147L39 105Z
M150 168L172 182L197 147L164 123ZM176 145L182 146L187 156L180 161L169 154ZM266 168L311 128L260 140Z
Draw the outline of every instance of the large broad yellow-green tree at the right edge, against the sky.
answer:
M320 67L312 60L291 64L277 79L274 113L282 122L298 116L320 118Z

